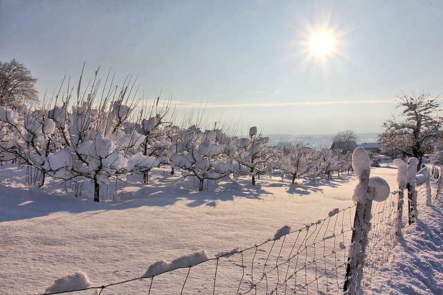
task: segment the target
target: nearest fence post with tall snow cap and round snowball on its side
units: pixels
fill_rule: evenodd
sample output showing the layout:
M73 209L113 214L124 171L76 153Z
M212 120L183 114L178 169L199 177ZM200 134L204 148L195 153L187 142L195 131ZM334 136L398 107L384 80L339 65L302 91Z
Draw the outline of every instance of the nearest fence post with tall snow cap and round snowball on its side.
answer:
M383 202L390 194L390 187L386 180L379 177L370 178L370 159L362 147L356 148L352 153L352 168L359 183L352 196L352 200L356 202L356 210L343 285L345 294L357 294L361 291L365 250L371 229L372 200Z

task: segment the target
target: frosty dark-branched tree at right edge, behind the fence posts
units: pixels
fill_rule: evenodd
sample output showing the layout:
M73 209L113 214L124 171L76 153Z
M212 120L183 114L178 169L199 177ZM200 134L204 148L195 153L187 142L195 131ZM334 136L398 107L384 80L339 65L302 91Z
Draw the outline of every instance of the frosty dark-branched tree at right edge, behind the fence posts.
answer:
M424 154L433 152L433 142L443 138L440 103L430 97L430 93L424 92L398 97L401 115L384 122L378 138L384 149L401 153L405 158L415 157L419 166Z

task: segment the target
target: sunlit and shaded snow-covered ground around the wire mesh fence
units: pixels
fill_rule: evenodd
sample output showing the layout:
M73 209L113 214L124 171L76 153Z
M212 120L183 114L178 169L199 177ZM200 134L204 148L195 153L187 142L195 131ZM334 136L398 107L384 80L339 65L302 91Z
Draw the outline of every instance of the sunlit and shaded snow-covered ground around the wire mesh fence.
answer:
M392 167L371 171L388 181L391 190L397 187L396 173ZM157 260L173 261L201 250L214 257L221 251L251 247L273 238L284 225L298 229L327 217L334 208L352 206L356 185L354 175L344 174L316 182L300 180L296 185L264 178L255 187L241 179L210 184L208 191L197 192L192 180L154 169L149 185L141 183L141 175L133 175L125 187L118 182L114 194L116 184L111 182L103 189L108 192L105 202L96 203L91 201L93 186L88 182L82 198L89 200L66 196L64 185L51 179L43 190L28 188L25 182L24 170L1 167L2 294L43 293L57 278L79 271L93 286L107 285L142 276ZM405 231L370 293L443 294L438 260L443 258L442 211L439 201ZM118 292L140 294L147 287L142 281ZM114 292L105 289L103 294Z

